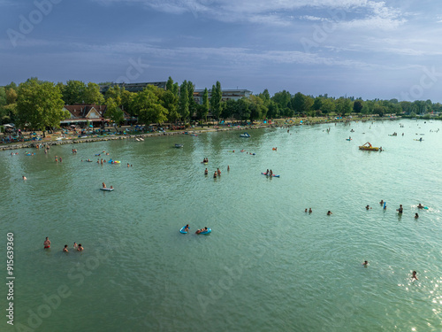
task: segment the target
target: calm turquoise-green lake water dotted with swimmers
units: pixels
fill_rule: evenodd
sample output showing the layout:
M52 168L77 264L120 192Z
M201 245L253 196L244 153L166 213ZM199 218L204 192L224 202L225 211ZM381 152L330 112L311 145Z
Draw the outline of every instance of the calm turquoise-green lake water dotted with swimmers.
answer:
M440 331L441 125L153 137L76 144L77 155L72 145L33 157L0 151L1 271L12 232L16 277L16 329L4 317L0 330ZM385 151L359 151L366 142ZM102 151L121 164L80 161ZM280 178L263 176L267 168ZM99 190L103 181L115 190ZM187 223L191 232L179 234ZM206 226L210 235L194 234ZM85 251L72 251L74 241Z

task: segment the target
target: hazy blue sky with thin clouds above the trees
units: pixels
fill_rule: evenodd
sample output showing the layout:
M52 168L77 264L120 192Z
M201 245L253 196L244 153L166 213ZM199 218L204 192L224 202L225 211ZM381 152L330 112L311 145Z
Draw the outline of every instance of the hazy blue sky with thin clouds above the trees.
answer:
M441 35L429 0L0 0L0 85L171 76L442 102Z

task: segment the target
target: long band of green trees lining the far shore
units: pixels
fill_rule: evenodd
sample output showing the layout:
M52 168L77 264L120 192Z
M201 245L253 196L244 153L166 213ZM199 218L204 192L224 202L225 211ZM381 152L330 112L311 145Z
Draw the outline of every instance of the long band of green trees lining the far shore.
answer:
M294 116L346 116L350 113L365 115L407 114L424 115L442 112L442 104L431 100L414 102L397 99L362 100L361 97L308 96L301 92L292 95L283 90L270 95L268 89L240 100L223 100L221 83L204 89L202 103L194 99L194 84L183 81L180 85L169 77L166 89L148 85L140 92L130 92L117 84L102 94L100 85L83 81L53 83L30 78L17 86L14 82L0 87L0 121L18 126L44 130L59 127L68 118L63 112L66 104L105 104L106 118L116 123L124 121L125 113L139 123L187 123L189 120L207 121L209 112L214 120L254 121L291 118Z

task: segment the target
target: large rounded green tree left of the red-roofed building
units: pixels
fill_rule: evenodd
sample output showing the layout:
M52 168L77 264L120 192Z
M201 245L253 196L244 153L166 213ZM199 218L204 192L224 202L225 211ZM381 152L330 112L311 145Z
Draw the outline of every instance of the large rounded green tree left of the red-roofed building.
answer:
M42 130L46 127L60 127L60 121L68 116L63 111L63 99L57 86L51 82L30 79L19 85L17 117L20 126Z

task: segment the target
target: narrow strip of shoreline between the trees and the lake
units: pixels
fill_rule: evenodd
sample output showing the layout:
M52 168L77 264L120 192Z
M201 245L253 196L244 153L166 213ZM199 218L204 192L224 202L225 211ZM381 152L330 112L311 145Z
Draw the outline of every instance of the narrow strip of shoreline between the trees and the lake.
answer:
M397 120L399 120L398 118ZM303 120L304 123L300 123L300 120ZM201 127L197 128L189 128L185 131L167 131L167 132L156 132L156 133L141 133L141 134L131 134L131 135L112 135L112 136L102 136L102 137L67 137L64 140L50 139L45 141L29 141L23 143L9 143L0 145L0 151L7 150L18 150L18 149L38 149L38 146L45 145L65 145L65 144L80 144L80 143L94 143L94 142L103 142L103 141L113 141L113 140L125 140L125 139L135 139L135 138L144 138L144 137L156 137L156 136L170 136L170 135L191 135L191 134L204 134L209 132L219 132L219 131L230 131L230 130L253 130L253 129L261 129L268 127L293 127L293 126L313 126L313 125L323 125L327 123L350 123L353 121L375 121L375 120L387 120L387 119L377 119L377 118L355 118L355 119L339 119L339 120L327 120L324 118L292 118L290 123L287 123L286 120L283 121L274 121L271 124L256 124L253 127L245 127L245 126L235 126L235 127ZM390 119L388 119L390 120ZM187 133L187 134L185 134Z

